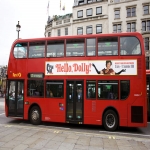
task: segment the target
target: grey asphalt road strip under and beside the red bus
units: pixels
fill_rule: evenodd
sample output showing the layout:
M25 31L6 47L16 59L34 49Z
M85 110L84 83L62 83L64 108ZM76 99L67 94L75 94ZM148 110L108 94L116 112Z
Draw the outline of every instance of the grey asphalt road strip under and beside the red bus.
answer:
M0 124L6 125L22 125L22 126L33 126L29 121L15 120L13 118L7 118L5 116L4 110L4 98L0 98ZM86 132L86 133L96 133L96 134L111 134L111 135L123 135L123 136L135 136L142 138L150 138L150 123L146 128L127 128L120 127L116 132L107 132L102 126L91 126L91 125L77 125L77 124L62 124L62 123L48 123L42 122L40 127L51 128L51 129L64 129L64 130L74 130L76 132Z

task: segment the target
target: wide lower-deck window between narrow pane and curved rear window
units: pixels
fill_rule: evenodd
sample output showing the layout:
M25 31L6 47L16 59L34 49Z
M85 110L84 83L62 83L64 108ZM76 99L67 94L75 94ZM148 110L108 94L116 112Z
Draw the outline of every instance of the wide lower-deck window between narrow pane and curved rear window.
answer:
M98 81L99 99L118 99L118 81Z

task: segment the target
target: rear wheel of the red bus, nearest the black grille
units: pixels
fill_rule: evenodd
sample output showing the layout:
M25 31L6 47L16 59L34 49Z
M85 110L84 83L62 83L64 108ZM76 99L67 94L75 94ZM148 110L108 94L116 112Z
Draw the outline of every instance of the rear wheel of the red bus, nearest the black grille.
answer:
M115 131L118 127L118 116L115 111L107 110L103 116L103 126L107 131Z

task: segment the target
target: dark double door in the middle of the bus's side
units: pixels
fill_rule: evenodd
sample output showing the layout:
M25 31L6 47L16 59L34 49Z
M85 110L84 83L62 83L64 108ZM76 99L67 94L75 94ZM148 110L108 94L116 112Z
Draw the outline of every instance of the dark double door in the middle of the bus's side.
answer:
M83 81L67 81L66 121L83 122Z

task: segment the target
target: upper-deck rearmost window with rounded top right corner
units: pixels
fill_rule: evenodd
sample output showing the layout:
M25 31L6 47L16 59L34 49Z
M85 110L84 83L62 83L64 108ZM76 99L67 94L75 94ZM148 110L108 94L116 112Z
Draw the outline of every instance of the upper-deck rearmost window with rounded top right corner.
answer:
M120 37L120 55L141 55L139 40L136 37Z

